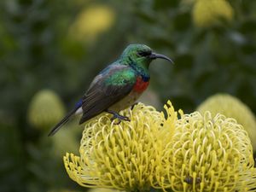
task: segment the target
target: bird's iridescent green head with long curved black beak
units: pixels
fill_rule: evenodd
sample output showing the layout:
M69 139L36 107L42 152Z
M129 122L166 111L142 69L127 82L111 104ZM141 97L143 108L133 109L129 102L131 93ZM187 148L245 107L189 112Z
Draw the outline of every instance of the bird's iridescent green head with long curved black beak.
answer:
M130 44L121 55L121 59L125 61L125 63L141 65L147 68L151 61L158 58L173 63L173 61L166 55L154 53L151 48L144 44Z

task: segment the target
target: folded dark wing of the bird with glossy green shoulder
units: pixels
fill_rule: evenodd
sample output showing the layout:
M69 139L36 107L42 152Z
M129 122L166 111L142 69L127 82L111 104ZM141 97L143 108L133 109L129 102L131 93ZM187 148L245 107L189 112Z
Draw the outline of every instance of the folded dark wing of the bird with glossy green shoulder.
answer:
M136 73L131 67L111 65L90 84L83 96L83 116L79 124L102 113L115 102L129 94L136 83Z

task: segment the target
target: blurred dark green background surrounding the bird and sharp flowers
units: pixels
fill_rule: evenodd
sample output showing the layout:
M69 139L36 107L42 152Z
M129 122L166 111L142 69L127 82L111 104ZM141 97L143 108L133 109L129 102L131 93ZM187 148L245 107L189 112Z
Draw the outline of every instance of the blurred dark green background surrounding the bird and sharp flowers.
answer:
M256 2L212 1L0 1L0 191L86 190L62 163L65 151L78 150L82 128L74 120L47 133L127 44L175 61L154 61L141 101L161 110L170 99L189 113L226 92L255 114ZM45 96L32 109L38 91ZM53 119L31 120L41 117Z

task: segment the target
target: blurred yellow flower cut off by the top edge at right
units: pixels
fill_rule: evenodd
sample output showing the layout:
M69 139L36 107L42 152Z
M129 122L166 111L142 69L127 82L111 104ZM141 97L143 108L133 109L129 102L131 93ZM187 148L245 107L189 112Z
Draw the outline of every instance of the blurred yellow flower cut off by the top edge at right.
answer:
M234 10L227 0L197 0L192 14L196 26L208 27L232 20Z

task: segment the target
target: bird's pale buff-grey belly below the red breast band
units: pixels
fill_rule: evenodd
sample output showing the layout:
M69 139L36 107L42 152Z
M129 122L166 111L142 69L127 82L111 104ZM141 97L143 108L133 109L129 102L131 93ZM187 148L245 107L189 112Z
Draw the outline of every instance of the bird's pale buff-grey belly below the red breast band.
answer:
M123 98L119 102L114 103L113 106L111 106L108 109L119 112L125 108L132 106L137 101L138 97L141 95L142 93L131 91L131 93L128 96L125 96L125 98Z

